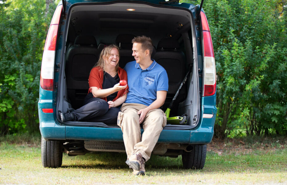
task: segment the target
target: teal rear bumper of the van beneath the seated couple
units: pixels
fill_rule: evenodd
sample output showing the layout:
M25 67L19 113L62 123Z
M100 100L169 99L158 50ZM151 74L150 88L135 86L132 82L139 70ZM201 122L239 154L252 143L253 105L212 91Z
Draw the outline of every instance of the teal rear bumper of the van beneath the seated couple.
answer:
M50 114L46 115L45 114ZM43 113L39 109L40 132L45 139L56 140L98 140L98 141L123 141L123 133L120 128L100 128L65 126L54 119L47 119L53 113ZM41 119L45 117L45 119ZM163 130L158 142L161 143L188 143L188 144L208 144L211 142L214 131L213 118L203 118L202 124L195 130ZM209 124L207 124L209 123ZM143 130L141 130L143 132Z

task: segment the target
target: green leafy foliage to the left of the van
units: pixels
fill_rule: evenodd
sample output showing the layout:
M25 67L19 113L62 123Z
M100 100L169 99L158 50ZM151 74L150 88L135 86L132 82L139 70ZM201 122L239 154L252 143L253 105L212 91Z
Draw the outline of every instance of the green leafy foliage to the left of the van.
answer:
M51 21L45 2L0 4L1 133L38 129L37 102L44 41ZM55 9L54 7L51 7Z

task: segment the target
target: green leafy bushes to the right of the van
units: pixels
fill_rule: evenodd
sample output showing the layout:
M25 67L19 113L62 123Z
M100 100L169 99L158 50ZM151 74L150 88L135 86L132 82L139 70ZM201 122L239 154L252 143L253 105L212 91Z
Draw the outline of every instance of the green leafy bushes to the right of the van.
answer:
M189 1L189 3L192 3ZM215 135L287 134L286 0L204 2L217 70Z

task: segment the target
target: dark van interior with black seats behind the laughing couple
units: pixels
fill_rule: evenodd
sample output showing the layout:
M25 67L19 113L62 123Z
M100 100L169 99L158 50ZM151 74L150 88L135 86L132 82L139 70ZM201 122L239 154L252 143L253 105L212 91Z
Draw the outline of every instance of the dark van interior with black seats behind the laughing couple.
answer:
M127 3L126 3L127 4ZM68 15L69 29L65 51L67 99L73 109L82 106L88 93L89 72L98 61L105 45L120 48L119 66L134 60L131 40L146 35L153 40L152 59L163 66L168 74L168 94L164 111L192 65L191 16L185 10L152 8L145 5L78 5ZM189 14L189 15L188 15ZM186 85L179 92L171 109L177 114L177 105L186 98Z

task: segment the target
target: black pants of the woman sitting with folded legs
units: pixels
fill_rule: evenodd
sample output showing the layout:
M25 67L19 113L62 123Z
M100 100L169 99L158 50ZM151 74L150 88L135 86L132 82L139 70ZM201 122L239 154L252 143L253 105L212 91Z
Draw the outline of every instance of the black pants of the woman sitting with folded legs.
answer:
M76 121L102 122L106 125L117 124L118 113L121 111L119 108L111 107L109 109L108 102L93 97L92 93L85 97L84 104L72 112Z

